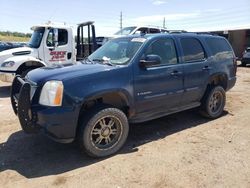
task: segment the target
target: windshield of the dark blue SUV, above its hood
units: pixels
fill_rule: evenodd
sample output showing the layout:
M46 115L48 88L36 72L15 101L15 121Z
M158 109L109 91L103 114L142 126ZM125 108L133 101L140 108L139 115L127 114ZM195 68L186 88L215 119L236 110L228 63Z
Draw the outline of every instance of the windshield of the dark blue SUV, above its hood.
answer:
M145 41L145 38L113 39L96 50L88 59L104 64L128 64Z

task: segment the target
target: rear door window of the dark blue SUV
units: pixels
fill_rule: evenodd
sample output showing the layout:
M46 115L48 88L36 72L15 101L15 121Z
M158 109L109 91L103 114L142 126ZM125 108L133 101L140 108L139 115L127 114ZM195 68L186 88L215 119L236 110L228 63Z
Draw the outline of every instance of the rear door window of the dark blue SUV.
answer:
M201 61L205 58L205 52L199 40L195 38L182 38L181 46L185 62Z

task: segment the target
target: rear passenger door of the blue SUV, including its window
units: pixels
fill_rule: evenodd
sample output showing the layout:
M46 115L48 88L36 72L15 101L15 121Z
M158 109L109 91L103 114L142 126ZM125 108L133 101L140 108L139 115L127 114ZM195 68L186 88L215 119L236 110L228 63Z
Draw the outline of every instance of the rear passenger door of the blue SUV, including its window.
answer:
M184 95L182 106L199 102L210 73L210 61L198 38L182 37L179 40L182 48L184 70Z

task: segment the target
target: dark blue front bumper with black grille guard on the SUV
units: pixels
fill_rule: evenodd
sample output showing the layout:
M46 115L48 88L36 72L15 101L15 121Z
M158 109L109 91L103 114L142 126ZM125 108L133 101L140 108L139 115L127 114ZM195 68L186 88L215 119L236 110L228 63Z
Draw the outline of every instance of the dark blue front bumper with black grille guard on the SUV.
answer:
M53 140L69 143L75 139L78 113L73 107L47 107L32 103L32 86L19 76L11 89L11 104L26 133L40 130Z

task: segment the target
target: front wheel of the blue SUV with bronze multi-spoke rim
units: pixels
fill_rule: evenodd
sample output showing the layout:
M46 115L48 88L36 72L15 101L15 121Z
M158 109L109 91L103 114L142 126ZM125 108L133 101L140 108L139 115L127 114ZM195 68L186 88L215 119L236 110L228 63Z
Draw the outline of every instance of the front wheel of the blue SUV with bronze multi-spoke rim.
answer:
M129 131L126 115L110 105L90 110L80 126L80 148L92 157L105 157L117 152L125 143Z

